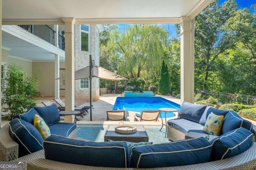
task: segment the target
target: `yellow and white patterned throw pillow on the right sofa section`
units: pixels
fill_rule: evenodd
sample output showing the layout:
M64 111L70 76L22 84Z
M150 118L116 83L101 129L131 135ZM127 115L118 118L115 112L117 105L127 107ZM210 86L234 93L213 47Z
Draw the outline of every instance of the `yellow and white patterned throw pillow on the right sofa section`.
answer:
M210 135L218 136L220 133L223 120L224 120L223 115L218 116L211 112L208 115L206 123L204 125L204 128L203 128L204 132Z

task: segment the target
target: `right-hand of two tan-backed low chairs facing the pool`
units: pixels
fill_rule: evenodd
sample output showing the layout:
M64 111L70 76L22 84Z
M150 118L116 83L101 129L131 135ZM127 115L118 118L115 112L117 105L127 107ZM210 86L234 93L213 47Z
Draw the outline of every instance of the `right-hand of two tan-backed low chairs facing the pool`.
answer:
M142 113L134 115L134 121L158 121L159 110L143 110Z

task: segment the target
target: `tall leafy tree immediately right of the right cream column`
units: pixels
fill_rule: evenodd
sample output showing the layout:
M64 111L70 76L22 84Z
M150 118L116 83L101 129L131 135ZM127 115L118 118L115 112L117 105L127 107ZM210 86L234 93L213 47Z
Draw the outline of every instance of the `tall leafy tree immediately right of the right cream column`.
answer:
M215 60L226 49L234 47L233 34L224 34L223 27L237 10L234 0L218 6L214 0L195 19L195 88L206 89L212 84Z

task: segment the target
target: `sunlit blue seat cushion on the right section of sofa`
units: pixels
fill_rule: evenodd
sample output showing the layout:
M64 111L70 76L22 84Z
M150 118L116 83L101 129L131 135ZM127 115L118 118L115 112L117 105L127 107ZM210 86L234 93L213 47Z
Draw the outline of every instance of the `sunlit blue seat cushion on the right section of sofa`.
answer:
M177 119L170 119L167 121L167 123L169 126L172 126L182 131L185 135L188 134L188 132L204 133L208 135L208 133L205 133L203 131L204 126L200 125L195 121L190 121L188 119L183 119L183 118L177 118Z

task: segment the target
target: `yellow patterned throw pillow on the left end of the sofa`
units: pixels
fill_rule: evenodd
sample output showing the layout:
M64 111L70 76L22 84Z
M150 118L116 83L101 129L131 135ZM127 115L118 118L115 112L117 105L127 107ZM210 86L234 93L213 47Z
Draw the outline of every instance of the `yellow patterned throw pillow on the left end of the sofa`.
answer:
M34 127L36 127L36 129L40 132L40 135L44 140L51 135L50 129L44 122L44 119L37 114L34 116Z

